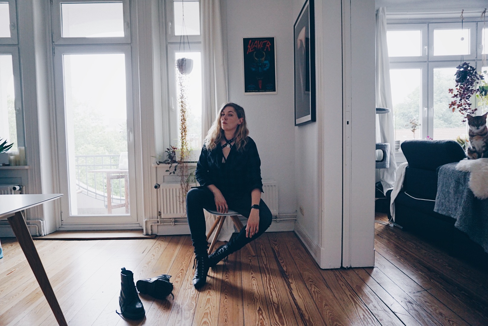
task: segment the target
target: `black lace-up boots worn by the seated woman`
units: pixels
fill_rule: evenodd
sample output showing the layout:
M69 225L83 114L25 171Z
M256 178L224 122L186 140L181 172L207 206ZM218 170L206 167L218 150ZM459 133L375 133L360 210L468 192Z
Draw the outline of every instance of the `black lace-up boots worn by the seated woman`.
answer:
M217 250L207 256L206 251L202 254L195 254L195 260L193 261L193 268L195 268L195 277L193 278L193 286L195 288L201 288L207 282L208 269L215 267L217 263L233 253L235 250L232 248L231 243L221 245Z

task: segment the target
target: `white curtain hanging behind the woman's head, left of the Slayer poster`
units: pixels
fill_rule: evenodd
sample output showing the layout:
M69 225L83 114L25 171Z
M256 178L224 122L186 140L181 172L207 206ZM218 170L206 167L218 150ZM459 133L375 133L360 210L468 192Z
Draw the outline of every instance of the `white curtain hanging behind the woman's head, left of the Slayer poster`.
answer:
M202 0L203 116L206 136L219 107L228 102L227 59L221 0Z

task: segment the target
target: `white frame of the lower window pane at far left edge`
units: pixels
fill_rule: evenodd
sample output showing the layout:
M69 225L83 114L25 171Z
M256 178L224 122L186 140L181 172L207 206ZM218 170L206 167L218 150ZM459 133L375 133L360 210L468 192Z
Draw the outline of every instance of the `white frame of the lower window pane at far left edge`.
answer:
M17 126L17 146L25 146L24 109L22 105L22 91L20 88L20 59L19 47L0 45L0 55L12 56L12 71L14 74L14 106Z

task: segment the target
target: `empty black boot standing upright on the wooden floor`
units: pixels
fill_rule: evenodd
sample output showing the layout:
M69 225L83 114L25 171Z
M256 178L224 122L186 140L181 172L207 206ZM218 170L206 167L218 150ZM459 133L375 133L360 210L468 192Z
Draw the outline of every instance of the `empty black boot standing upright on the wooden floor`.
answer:
M119 296L119 305L122 316L127 319L142 319L145 311L141 299L137 294L136 285L134 285L134 274L130 270L122 267L121 272L121 295Z

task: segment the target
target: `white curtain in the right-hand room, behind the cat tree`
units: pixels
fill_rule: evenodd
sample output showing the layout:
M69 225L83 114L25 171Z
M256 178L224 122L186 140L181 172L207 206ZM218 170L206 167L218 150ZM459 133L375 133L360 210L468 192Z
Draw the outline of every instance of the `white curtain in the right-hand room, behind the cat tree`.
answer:
M386 8L376 12L376 107L387 107L390 113L376 115L376 143L390 144L390 166L376 169L376 182L381 181L383 190L395 183L395 135L393 128L393 103L391 101L390 62L386 44Z

